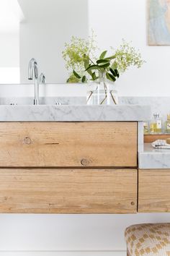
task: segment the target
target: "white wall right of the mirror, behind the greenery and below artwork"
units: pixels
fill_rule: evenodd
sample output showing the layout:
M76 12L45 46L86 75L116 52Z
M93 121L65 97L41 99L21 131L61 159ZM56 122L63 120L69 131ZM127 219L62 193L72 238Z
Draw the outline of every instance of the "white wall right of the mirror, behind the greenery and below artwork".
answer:
M89 0L89 25L101 49L117 47L125 38L133 41L147 61L117 80L120 95L170 95L170 48L147 45L146 0Z

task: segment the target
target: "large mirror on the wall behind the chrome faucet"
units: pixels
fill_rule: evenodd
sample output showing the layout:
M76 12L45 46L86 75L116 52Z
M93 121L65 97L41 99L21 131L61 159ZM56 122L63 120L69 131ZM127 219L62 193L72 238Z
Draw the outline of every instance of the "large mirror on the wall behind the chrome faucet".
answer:
M88 0L0 0L0 84L30 83L32 57L48 83L65 83L72 35L89 35Z

